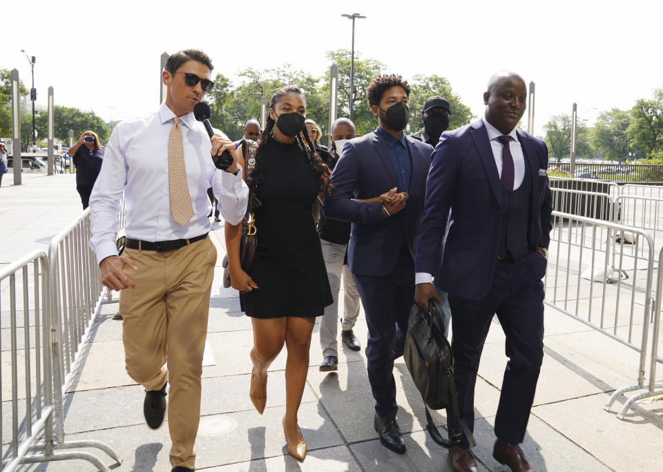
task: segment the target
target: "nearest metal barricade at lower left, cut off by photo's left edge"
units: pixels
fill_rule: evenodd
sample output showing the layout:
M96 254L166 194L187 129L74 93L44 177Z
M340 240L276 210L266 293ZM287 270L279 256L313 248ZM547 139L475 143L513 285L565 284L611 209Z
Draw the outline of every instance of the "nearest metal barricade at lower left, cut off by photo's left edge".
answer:
M11 440L6 440L5 408L0 408L2 472L26 462L44 462L52 455L53 396L50 352L50 271L44 251L34 251L0 271L0 307L9 299L10 388L0 366L0 402L11 406ZM20 316L19 314L22 314ZM22 319L21 319L22 318ZM6 318L2 321L6 322ZM22 326L20 325L22 323ZM4 325L5 323L3 323ZM34 333L31 333L34 328ZM21 333L22 332L22 333ZM22 334L22 335L21 335ZM8 353L8 354L7 354ZM44 444L33 444L41 431ZM50 440L49 440L50 438ZM6 449L6 450L5 450ZM39 454L28 452L39 451Z

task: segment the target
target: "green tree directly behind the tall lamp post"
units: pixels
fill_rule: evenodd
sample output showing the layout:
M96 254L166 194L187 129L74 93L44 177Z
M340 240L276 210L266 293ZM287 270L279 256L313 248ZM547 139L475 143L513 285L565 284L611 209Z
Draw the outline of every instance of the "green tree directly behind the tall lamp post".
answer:
M338 67L338 106L336 108L336 116L349 117L349 97L350 97L350 59L351 53L347 49L338 49L335 51L327 51L327 59L329 65L336 64ZM371 108L368 106L366 98L366 88L371 81L385 70L385 64L375 59L361 59L356 51L354 53L354 106L352 108L352 121L357 128L359 135L370 133L378 122L373 115ZM322 95L325 102L329 102L329 69L325 72L325 83L322 86ZM327 105L329 106L329 105ZM329 108L327 108L329 110ZM327 116L328 116L327 111ZM320 127L326 129L329 118L324 118L324 123L327 126Z

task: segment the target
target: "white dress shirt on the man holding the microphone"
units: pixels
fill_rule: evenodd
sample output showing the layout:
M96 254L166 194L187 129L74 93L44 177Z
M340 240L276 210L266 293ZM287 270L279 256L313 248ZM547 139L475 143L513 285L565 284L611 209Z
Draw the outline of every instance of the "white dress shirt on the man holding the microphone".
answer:
M115 240L122 193L126 201L126 236L157 242L189 239L209 232L209 197L213 187L219 210L229 223L240 223L247 211L249 188L237 176L220 171L211 159L211 142L193 113L180 117L184 165L193 218L186 226L173 221L168 182L168 140L173 117L165 103L159 111L119 123L108 140L104 163L90 196L90 247L97 261L117 256Z

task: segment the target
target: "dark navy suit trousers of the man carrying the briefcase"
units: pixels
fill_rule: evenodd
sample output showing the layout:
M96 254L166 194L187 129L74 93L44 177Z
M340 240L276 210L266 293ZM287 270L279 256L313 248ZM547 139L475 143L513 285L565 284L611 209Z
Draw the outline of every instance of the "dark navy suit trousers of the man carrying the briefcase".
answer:
M538 259L537 259L538 258ZM506 364L495 417L499 439L523 442L544 356L544 257L530 253L516 263L498 261L486 298L468 300L449 294L452 349L461 417L474 430L474 384L481 350L494 314L506 336ZM542 269L541 269L542 267ZM486 412L483 412L486 413ZM451 410L447 409L451 418ZM448 421L452 431L453 421ZM463 437L463 449L468 447Z

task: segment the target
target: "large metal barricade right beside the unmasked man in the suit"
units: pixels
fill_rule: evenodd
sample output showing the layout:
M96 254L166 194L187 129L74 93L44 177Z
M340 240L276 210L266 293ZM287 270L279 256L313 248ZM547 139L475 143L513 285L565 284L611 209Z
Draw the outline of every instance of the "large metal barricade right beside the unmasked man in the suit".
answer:
M611 236L617 232L633 234L635 253L643 247L646 254L644 263L643 258L624 250L623 240L611 246ZM649 319L654 305L651 236L644 229L553 211L549 250L544 303L639 352L637 385L617 392L646 388ZM618 417L626 409L624 406Z

